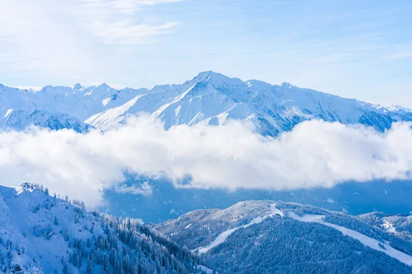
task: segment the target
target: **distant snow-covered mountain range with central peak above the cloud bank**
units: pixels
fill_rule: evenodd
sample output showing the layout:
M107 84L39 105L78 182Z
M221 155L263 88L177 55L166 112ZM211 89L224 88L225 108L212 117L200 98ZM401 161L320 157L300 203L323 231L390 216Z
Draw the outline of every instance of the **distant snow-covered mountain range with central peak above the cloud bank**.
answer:
M87 125L106 130L127 114L147 112L172 125L220 125L229 119L251 120L262 134L277 135L308 119L361 123L382 131L393 121L412 121L412 113L355 99L344 99L288 83L242 82L211 71L183 84L114 89L107 84L45 86L39 91L0 85L0 127L40 125L78 131ZM87 125L85 125L87 124Z

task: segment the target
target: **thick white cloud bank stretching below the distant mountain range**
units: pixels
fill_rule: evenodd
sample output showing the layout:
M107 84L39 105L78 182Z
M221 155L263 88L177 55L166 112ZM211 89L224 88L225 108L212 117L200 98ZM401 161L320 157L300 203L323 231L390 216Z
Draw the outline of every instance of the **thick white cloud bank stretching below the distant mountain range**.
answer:
M112 186L120 192L150 193L147 184L119 186L124 171L165 176L176 186L191 177L184 187L285 190L352 179L408 179L411 170L410 123L394 123L380 134L360 125L306 121L279 138L265 138L238 121L165 131L147 117L129 117L126 125L104 133L0 133L0 184L38 182L89 206L97 205L101 190Z

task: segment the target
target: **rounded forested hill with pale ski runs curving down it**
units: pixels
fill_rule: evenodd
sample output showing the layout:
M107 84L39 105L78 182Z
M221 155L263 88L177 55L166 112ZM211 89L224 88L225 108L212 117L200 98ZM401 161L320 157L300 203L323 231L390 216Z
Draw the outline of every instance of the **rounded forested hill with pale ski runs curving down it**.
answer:
M363 218L244 201L153 225L222 273L411 273L412 242Z

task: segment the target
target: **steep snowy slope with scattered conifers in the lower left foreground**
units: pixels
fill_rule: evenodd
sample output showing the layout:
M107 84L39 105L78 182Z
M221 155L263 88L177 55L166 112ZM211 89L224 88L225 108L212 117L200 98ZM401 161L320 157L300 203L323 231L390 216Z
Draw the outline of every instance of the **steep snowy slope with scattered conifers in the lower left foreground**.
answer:
M3 273L207 273L183 249L133 219L25 184L0 186Z

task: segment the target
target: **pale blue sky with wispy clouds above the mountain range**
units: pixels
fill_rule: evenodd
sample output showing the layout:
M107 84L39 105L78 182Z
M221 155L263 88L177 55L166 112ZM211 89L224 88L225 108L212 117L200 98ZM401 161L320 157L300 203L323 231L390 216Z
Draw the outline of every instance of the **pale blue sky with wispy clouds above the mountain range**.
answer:
M8 86L139 88L212 70L367 101L412 93L411 1L0 0L0 10Z

